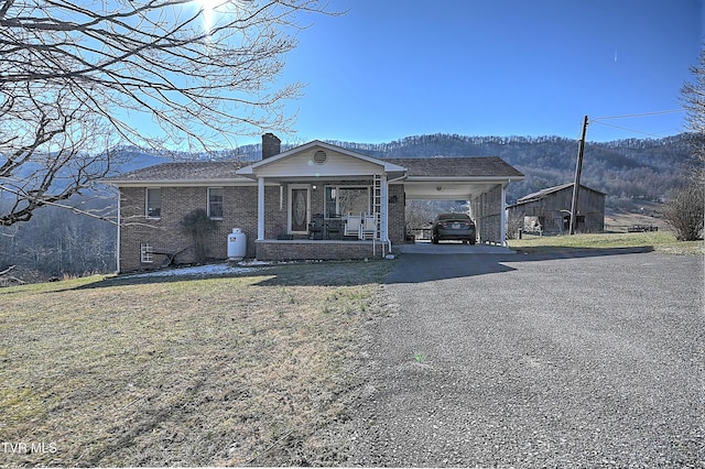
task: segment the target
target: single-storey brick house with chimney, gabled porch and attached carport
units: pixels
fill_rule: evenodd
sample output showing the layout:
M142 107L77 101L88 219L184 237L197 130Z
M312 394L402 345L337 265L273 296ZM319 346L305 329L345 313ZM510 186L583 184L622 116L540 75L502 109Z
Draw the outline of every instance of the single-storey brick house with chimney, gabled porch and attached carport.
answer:
M503 246L505 188L522 178L495 156L375 159L317 140L282 153L268 133L254 163L164 163L105 183L119 189L118 270L128 272L193 262L180 222L197 208L216 220L208 251L221 260L234 228L247 258L382 257L404 242L409 199L470 200L479 241Z

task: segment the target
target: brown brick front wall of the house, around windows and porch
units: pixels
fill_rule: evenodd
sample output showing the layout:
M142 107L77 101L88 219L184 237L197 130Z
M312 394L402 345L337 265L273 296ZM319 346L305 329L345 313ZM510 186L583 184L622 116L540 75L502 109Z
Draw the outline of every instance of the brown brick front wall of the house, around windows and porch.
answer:
M312 215L324 212L324 186L326 184L369 185L371 181L337 181L316 184L316 190L311 190ZM247 257L254 258L257 255L259 258L259 251L256 250L257 190L257 186L223 187L223 219L216 220L218 229L208 234L209 258L227 259L227 239L232 228L240 228L246 234ZM397 201L389 204L389 237L392 243L401 243L405 231L403 185L390 186L389 197L392 198L393 196L397 196ZM141 243L150 244L155 252L178 253L175 258L176 263L194 261L194 253L191 248L193 241L189 237L181 233L180 222L189 211L196 208L208 208L208 187L162 187L161 203L161 218L149 219L144 217L145 188L122 187L120 189L122 226L120 229L119 269L121 272L159 269L166 261L167 258L165 255L155 255L152 263L141 262ZM276 239L279 234L286 233L288 206L289 186L286 184L283 184L281 189L279 186L267 186L264 188L265 239ZM351 244L346 246L346 249L352 249ZM330 259L364 259L370 257L371 253L362 252L365 249L355 248L355 257L352 258L345 257L344 253L334 252Z

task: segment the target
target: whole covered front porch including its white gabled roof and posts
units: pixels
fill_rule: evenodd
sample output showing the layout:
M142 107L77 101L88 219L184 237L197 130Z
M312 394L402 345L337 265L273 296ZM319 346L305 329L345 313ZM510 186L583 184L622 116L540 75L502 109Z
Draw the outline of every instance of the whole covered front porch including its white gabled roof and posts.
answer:
M389 229L403 219L394 164L315 141L238 174L257 181L257 259L383 257L400 238Z

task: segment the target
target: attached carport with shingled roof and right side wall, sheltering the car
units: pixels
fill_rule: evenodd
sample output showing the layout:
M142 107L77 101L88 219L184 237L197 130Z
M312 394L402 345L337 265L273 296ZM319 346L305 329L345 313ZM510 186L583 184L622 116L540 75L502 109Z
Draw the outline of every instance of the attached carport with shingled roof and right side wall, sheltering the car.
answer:
M405 200L468 200L479 242L507 246L507 185L524 178L517 168L497 156L386 161L406 168Z

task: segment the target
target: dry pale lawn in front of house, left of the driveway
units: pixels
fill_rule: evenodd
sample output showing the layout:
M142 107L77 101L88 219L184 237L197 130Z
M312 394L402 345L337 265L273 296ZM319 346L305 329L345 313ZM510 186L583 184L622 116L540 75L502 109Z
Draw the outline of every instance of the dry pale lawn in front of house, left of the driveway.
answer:
M350 346L391 265L0 290L0 441L36 445L0 465L343 462Z

